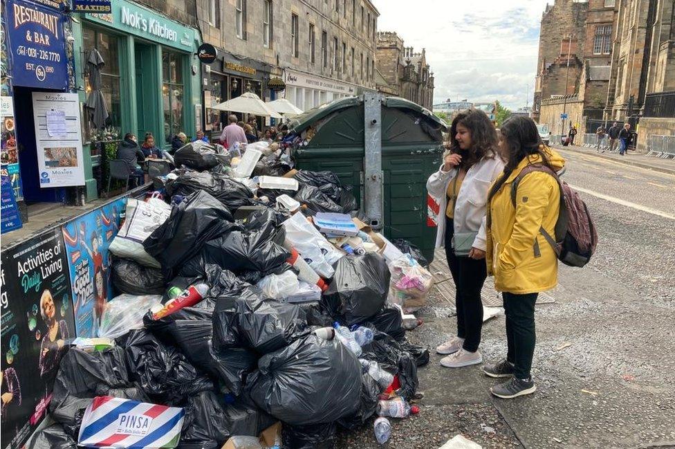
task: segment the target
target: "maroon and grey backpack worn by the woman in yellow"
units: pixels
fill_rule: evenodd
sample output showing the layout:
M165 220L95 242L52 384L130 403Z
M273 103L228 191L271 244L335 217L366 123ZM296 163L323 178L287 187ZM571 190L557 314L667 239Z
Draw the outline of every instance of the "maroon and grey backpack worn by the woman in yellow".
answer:
M591 219L589 208L572 187L546 165L530 164L516 176L511 185L511 202L516 207L516 190L521 179L528 173L544 172L555 178L560 186L560 214L555 222L555 238L542 227L539 232L553 247L560 262L568 266L584 266L589 263L598 245L598 232ZM535 241L535 255L539 254L539 246Z

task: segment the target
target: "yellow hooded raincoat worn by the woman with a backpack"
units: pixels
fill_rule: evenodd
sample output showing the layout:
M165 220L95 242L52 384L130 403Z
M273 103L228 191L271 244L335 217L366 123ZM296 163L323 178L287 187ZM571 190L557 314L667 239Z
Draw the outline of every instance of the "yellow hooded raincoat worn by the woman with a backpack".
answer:
M548 147L546 154L555 171L562 169L565 160L560 154ZM543 226L549 235L555 235L560 212L557 181L548 173L530 172L517 186L516 208L511 201L516 176L526 165L541 162L538 154L524 158L488 205L491 224L486 232L486 263L488 274L494 275L497 291L535 293L557 284L555 251L539 232ZM535 239L541 255L536 255Z

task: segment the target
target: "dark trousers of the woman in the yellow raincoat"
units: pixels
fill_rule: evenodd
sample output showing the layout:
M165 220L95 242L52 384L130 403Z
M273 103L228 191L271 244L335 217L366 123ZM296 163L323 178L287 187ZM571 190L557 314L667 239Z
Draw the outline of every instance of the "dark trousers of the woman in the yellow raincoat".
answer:
M515 365L513 375L519 379L530 377L532 356L535 354L535 302L538 294L501 293L506 312L506 360Z

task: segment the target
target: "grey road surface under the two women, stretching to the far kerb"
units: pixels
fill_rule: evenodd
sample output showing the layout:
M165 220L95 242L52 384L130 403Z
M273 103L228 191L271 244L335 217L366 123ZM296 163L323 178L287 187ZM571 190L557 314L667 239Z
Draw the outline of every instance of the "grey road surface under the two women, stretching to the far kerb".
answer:
M537 392L492 398L479 367L451 371L433 354L419 370L422 411L394 423L389 448L438 448L457 433L483 448L675 447L675 176L561 153L600 244L588 266L560 268L555 302L537 305ZM452 336L452 305L432 295L409 339L434 348ZM486 322L481 351L504 355L503 315ZM371 425L340 433L338 448L380 447Z

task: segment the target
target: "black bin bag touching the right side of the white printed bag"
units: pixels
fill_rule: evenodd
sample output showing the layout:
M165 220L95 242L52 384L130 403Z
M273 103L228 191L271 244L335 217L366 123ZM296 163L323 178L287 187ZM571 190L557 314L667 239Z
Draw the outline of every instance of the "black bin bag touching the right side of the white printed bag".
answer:
M174 206L167 221L145 239L143 247L162 265L167 279L172 279L182 264L199 253L203 244L233 226L239 228L231 223L233 220L230 210L220 201L199 191Z

